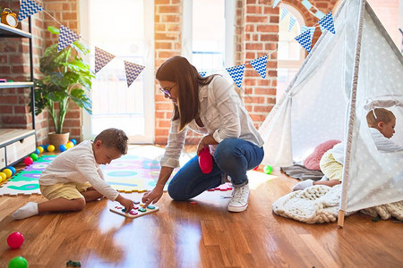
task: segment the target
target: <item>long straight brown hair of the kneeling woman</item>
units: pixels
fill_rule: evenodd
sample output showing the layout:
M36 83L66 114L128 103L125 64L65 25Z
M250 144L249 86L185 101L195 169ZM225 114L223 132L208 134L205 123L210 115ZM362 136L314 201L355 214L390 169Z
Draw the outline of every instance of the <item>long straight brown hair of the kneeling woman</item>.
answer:
M171 121L179 119L179 131L184 130L200 112L199 87L210 84L216 75L201 77L196 68L181 56L169 58L159 66L157 80L176 83L177 105L174 105Z

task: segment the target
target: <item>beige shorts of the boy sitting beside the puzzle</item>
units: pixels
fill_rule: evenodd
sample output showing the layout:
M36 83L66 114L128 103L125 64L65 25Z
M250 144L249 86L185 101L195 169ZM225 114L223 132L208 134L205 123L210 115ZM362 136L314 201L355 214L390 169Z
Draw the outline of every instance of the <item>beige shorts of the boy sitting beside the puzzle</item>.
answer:
M90 182L86 183L56 183L54 185L39 185L40 192L48 200L53 200L56 198L64 198L68 200L84 198L81 192L86 191L90 188Z

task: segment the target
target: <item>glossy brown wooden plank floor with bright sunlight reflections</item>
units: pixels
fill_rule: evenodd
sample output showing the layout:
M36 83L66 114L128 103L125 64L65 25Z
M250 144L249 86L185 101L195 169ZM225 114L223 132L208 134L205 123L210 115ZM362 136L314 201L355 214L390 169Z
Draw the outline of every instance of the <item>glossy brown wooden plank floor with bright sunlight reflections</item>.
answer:
M230 192L205 192L194 198L197 205L165 193L159 212L134 220L110 213L102 199L78 213L13 221L21 205L44 198L0 197L0 267L18 255L30 268L65 267L68 260L97 268L403 266L402 223L354 214L339 229L337 222L309 225L273 214L271 204L296 183L275 173L273 180L250 178L249 207L239 214L227 212ZM19 249L7 246L13 231L25 237Z

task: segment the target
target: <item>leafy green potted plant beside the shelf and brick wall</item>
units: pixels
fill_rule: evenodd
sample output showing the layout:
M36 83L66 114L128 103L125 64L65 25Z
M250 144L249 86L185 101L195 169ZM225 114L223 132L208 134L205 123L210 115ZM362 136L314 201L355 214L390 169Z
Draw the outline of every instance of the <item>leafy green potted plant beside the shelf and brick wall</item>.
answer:
M47 29L53 34L59 34L59 29L55 27L49 26ZM91 79L95 76L90 71L90 65L78 55L88 53L90 50L79 41L60 52L57 52L57 44L54 44L47 47L39 60L43 78L34 80L35 114L48 109L55 128L55 132L49 133L48 138L49 143L55 147L69 140L69 133L63 132L63 124L71 101L92 113L92 103L85 89L90 90Z

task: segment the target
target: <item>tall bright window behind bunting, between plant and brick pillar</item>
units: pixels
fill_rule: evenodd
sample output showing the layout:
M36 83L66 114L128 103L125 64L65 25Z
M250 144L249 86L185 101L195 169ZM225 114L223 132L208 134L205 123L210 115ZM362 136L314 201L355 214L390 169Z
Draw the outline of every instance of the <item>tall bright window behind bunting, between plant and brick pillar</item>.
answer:
M81 29L90 40L92 69L95 70L95 46L116 55L92 81L92 115L84 118L84 136L93 138L101 130L113 127L124 130L132 143L151 143L154 114L145 111L153 109L153 91L145 88L153 87L154 63L149 53L153 50L153 29L148 30L153 28L153 1L116 0L111 6L107 0L81 0L81 4L81 13L88 14ZM146 66L130 88L124 61Z

